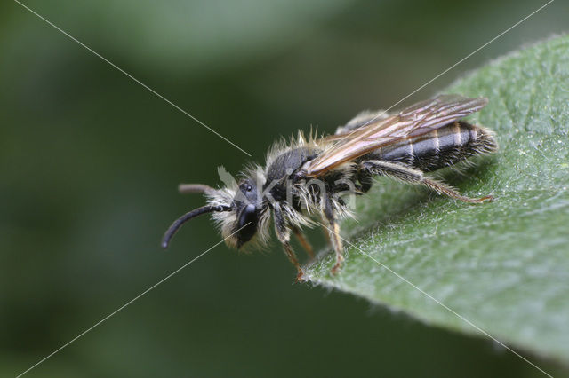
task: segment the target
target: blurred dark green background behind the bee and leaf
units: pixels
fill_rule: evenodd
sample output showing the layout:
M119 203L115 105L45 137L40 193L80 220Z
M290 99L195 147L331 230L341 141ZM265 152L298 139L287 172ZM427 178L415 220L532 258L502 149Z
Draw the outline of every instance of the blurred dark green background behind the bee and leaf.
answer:
M262 162L278 136L391 106L544 2L24 4ZM405 104L566 31L568 15L549 5ZM201 218L159 248L204 202L178 183L220 184L217 166L247 156L19 4L0 21L0 375L13 376L218 242ZM484 338L293 284L270 251L213 249L28 375L541 376Z

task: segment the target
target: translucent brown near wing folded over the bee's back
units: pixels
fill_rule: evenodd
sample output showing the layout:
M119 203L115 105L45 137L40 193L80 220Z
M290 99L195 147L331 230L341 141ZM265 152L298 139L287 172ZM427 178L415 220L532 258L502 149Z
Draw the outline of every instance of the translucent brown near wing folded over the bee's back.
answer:
M337 142L302 168L318 177L343 162L357 159L376 148L400 139L416 138L482 109L487 98L441 95L419 102L384 119L373 120L350 132L328 137Z

